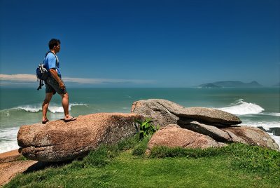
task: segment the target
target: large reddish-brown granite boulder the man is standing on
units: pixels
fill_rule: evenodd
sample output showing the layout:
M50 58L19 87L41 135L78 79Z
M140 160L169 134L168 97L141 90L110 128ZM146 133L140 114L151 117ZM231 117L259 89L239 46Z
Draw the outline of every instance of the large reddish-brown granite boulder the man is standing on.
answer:
M20 152L36 161L67 161L84 156L99 145L116 143L136 133L137 114L100 113L78 116L76 121L50 121L22 126Z

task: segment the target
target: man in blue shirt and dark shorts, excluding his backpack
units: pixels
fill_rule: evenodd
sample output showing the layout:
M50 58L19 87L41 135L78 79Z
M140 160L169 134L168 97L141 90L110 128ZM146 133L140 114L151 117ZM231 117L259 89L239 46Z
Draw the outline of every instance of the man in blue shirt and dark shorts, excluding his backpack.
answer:
M62 97L62 107L64 109L64 121L75 121L76 118L70 116L69 114L69 95L66 92L66 87L62 81L60 69L59 69L59 60L57 58L57 53L60 51L60 41L58 39L51 39L48 43L50 51L45 56L43 64L50 73L48 79L45 81L45 100L43 101L42 111L43 118L42 123L45 124L49 120L47 118L48 105L50 100L52 100L52 95L58 93Z

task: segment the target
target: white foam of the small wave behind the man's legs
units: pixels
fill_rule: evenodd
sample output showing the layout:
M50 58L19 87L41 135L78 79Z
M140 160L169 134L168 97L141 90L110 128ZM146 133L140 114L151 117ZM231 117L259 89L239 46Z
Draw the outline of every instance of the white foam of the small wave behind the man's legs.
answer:
M73 104L69 104L69 111L71 111L71 107L73 106L86 106L86 104L83 103L73 103ZM24 110L25 112L32 112L32 113L36 113L36 112L40 112L42 110L41 105L22 105L20 107L16 107L14 109L21 109ZM63 113L63 107L61 105L52 105L50 104L50 106L48 107L48 110L52 113Z

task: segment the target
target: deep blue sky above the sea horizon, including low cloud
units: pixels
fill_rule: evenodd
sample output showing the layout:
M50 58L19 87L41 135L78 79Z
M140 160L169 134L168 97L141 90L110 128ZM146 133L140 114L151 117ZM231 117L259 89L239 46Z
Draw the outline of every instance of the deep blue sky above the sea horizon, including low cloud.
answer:
M279 83L278 0L0 2L0 86L37 85L52 38L68 86Z

